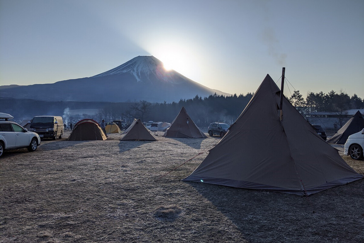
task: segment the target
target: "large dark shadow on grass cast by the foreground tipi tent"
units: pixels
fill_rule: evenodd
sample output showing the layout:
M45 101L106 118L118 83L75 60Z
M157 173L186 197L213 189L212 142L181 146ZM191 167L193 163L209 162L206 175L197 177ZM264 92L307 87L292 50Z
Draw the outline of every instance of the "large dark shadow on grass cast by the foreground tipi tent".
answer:
M228 217L248 242L361 242L364 239L364 214L360 213L364 206L360 200L364 196L364 180L309 197L186 183Z

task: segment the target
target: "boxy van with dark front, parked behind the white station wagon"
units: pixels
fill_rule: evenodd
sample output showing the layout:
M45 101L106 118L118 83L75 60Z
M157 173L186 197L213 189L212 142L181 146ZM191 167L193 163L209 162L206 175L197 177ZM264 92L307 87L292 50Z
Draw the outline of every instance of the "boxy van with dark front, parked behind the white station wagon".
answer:
M39 115L33 117L29 130L38 133L40 138L53 138L63 136L63 119L54 115Z

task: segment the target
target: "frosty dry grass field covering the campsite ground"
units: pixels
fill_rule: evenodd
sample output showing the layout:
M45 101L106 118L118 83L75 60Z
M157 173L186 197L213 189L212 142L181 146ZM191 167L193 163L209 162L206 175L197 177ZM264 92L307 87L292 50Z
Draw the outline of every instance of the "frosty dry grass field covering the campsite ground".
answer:
M155 134L6 153L0 242L364 242L364 180L309 197L182 182L219 138Z

